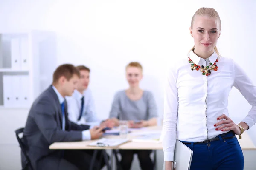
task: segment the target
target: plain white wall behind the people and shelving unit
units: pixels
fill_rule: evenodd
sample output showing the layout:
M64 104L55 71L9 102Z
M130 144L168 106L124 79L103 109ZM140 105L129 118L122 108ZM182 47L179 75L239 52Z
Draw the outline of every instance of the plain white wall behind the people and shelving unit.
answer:
M193 46L189 35L190 21L195 11L203 6L215 8L221 17L222 31L218 42L221 54L241 63L256 84L253 71L256 62L253 55L256 46L254 0L1 0L0 32L56 31L57 64L69 62L90 67L90 88L96 110L103 119L108 117L114 93L128 86L125 65L131 61L141 62L144 67L141 87L153 92L162 116L165 69ZM249 110L250 105L234 89L229 100L230 116L239 122ZM0 117L5 117L1 121L8 120L6 114L9 112L0 110ZM26 117L23 111L13 112ZM14 120L0 123L0 140L3 134L6 135L4 139L14 140L12 132L16 126L13 124L22 126L25 123L25 119L16 116L10 115L9 119ZM3 130L7 125L11 128L8 134ZM253 135L256 126L248 133L256 144ZM3 164L6 159L0 157L0 170L12 169Z

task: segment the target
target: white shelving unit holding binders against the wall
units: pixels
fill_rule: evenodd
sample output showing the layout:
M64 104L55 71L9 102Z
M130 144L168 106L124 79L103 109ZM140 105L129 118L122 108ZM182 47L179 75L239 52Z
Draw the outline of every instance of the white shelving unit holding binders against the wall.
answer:
M54 32L0 33L0 109L30 108L55 67Z

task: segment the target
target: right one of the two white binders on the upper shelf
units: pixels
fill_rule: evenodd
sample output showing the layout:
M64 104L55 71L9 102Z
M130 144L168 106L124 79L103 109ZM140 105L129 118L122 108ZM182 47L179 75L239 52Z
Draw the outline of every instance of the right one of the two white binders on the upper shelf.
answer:
M29 69L29 44L27 38L22 38L20 41L20 61L21 69Z

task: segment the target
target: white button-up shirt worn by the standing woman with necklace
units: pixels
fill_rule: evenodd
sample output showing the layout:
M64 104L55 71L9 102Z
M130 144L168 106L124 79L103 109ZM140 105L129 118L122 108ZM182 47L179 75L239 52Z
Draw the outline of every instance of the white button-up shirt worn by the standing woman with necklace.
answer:
M193 51L190 59L196 64L207 66L218 58L214 52L207 59L198 57ZM214 125L221 120L218 116L226 114L228 96L232 87L236 87L252 105L248 115L242 120L252 127L256 122L256 86L247 77L243 69L233 59L219 57L218 71L211 71L207 77L200 69L191 70L189 58L183 57L172 63L164 98L163 150L164 161L173 161L176 138L181 141L201 142L213 139L222 131Z

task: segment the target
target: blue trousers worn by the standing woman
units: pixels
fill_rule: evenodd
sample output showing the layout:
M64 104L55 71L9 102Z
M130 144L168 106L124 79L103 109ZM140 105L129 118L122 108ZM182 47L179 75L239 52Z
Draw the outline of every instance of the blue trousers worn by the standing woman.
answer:
M236 137L230 131L225 136L218 136L220 140L209 143L194 144L187 142L187 147L193 150L190 170L243 170L244 155ZM185 141L181 141L185 142Z

